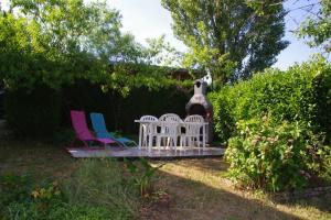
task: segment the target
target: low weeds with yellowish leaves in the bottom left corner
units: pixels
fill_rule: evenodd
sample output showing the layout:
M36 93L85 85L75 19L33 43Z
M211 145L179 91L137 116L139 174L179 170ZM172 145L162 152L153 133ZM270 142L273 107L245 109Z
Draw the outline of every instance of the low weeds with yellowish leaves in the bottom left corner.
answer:
M28 175L6 174L0 177L0 212L3 219L50 219L50 210L62 200L57 184L38 186Z

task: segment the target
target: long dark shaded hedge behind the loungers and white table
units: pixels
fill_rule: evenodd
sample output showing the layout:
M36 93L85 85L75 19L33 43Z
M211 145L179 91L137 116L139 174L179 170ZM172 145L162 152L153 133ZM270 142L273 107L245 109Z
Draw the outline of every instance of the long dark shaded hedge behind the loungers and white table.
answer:
M87 117L93 111L102 112L109 130L138 133L134 120L143 114L159 117L175 112L184 117L190 96L170 86L159 90L136 88L122 97L119 91L104 92L100 85L78 80L60 91L42 86L32 91L8 91L6 118L15 135L21 138L53 138L56 132L72 129L72 109L84 110ZM89 123L89 119L87 121Z

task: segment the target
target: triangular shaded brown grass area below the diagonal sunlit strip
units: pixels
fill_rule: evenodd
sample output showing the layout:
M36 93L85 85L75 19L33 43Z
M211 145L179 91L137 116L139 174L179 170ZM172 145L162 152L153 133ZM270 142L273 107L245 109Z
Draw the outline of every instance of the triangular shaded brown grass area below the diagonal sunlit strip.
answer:
M281 212L257 199L247 199L229 191L210 187L201 182L159 172L160 188L164 188L171 204L162 219L299 219Z

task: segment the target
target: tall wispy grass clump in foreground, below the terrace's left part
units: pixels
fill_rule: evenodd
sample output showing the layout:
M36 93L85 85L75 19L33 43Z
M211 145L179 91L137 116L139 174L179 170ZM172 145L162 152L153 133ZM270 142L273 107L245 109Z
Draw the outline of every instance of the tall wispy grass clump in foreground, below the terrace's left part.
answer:
M136 188L124 176L124 167L113 160L84 160L76 175L65 185L72 205L106 207L130 219L137 216Z

